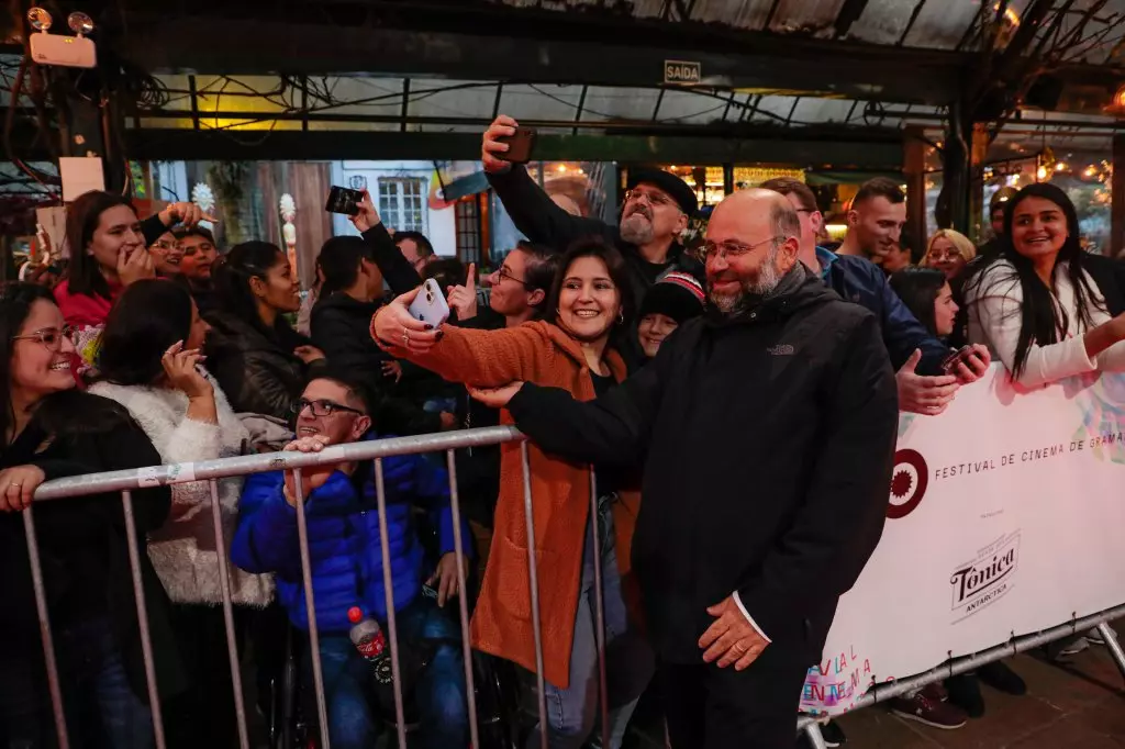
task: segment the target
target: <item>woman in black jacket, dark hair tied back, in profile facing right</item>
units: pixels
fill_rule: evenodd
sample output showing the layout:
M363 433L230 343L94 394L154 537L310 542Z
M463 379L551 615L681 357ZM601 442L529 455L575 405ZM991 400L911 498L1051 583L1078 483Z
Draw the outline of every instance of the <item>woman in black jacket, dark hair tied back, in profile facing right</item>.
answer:
M208 369L236 412L288 422L324 353L285 315L300 309L289 259L269 242L244 242L215 273L216 309L205 315Z

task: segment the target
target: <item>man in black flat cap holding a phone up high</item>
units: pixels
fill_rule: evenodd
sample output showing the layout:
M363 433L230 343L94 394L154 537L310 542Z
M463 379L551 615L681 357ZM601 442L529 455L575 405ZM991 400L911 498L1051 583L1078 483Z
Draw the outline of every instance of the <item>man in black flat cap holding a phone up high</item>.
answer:
M551 201L526 169L504 160L507 144L502 138L514 135L516 127L511 117L497 117L485 130L480 160L488 183L515 227L530 241L565 252L575 240L591 235L605 237L624 255L638 304L644 301L649 288L672 270L688 272L703 282L703 265L680 244L680 234L699 210L695 191L686 182L657 169L630 170L620 225L572 216ZM628 337L636 342L636 335ZM639 346L633 348L637 350L623 352L630 366L644 361Z

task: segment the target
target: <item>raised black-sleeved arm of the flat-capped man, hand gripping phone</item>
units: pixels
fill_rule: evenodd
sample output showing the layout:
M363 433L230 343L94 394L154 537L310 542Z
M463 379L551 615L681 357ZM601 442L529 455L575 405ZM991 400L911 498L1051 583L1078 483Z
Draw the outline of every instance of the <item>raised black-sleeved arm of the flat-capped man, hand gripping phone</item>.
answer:
M485 130L480 147L482 162L488 183L504 204L512 223L532 242L562 252L575 240L597 235L610 242L618 240L618 229L596 218L572 216L559 208L536 184L528 170L504 161L507 145L498 138L511 136L518 123L501 115Z

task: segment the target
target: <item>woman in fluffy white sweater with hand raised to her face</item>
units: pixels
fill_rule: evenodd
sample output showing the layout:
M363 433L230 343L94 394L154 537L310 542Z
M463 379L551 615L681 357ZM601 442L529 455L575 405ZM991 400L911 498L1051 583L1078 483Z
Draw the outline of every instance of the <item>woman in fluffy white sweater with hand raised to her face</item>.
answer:
M200 349L208 330L187 289L146 280L122 294L102 333L99 378L90 391L127 408L165 463L238 455L249 441L223 390L202 367ZM217 484L222 549L207 481L173 485L169 520L148 534L148 558L173 603L177 644L194 671L188 696L165 713L170 733L186 746L226 746L235 736L219 563L230 571L236 613L264 608L273 597L270 576L250 575L230 563L243 480ZM240 630L244 620L237 616Z

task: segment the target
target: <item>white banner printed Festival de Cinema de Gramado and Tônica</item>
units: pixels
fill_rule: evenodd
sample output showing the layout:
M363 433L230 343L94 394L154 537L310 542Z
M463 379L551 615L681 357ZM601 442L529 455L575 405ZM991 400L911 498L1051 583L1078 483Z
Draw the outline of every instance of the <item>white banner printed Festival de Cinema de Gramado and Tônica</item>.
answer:
M942 416L902 414L883 538L801 707L1125 603L1125 377L1026 390L993 367Z

